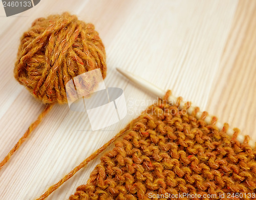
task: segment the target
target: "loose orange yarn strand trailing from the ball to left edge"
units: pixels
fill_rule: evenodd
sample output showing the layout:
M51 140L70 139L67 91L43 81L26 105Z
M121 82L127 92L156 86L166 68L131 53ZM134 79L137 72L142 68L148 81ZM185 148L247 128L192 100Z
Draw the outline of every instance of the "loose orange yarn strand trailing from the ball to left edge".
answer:
M9 151L4 160L0 163L0 170L4 165L10 160L12 154L26 141L26 139L31 135L32 131L38 126L46 114L51 110L53 104L48 104L46 108L40 113L37 119L29 126L25 134L19 139L15 146Z

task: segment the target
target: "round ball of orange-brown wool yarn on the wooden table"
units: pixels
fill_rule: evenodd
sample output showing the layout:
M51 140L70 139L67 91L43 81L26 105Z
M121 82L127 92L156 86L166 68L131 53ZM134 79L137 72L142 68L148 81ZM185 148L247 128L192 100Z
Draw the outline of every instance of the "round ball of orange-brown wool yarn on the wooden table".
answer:
M105 49L94 25L63 13L36 19L23 34L14 76L43 103L66 103L67 82L98 68L105 78Z

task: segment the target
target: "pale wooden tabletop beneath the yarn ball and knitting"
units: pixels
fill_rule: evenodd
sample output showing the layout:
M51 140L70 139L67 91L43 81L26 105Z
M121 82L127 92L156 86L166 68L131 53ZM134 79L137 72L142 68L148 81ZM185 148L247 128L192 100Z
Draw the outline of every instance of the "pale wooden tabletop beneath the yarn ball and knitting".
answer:
M44 0L17 16L1 17L0 160L44 109L13 78L19 37L37 17L69 11L95 25L106 48L105 85L123 89L128 115L91 131L86 115L55 105L0 171L0 199L38 197L154 102L156 97L120 76L117 66L171 89L256 139L255 7L252 0ZM97 162L48 199L67 199Z

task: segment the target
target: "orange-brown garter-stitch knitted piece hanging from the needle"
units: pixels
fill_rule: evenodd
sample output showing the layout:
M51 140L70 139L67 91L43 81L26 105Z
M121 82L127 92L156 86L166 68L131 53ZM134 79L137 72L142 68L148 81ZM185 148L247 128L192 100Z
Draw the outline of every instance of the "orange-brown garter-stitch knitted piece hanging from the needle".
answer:
M69 199L152 199L150 193L201 195L193 199L216 194L203 199L220 199L223 193L255 192L256 150L249 138L240 143L239 129L229 137L228 124L219 131L215 117L207 125L207 112L197 120L198 110L188 115L164 100L148 107Z

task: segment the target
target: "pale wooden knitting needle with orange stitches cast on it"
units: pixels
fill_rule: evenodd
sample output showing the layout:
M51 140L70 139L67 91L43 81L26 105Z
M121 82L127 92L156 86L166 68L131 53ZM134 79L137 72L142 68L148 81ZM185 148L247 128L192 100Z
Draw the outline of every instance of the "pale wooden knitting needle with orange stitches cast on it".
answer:
M131 72L127 72L126 70L123 70L123 69L120 69L120 68L116 68L116 70L122 74L123 76L125 76L126 78L128 78L129 80L131 80L132 82L134 82L136 85L138 85L142 90L146 90L150 93L152 93L153 95L157 96L157 97L160 97L160 98L163 98L164 95L165 95L165 91L163 91L161 88L157 87L156 85L153 85L152 83L146 81L145 79L135 75L135 74L132 74ZM178 98L177 97L174 97L173 95L170 95L168 97L168 102L171 103L171 104L176 104ZM179 105L179 108L182 109L184 108L184 105L185 105L185 102L184 101L181 101L180 102L180 105ZM189 115L192 114L193 110L196 108L196 106L193 106L193 105L190 105L190 107L187 109L187 113ZM199 110L199 112L197 113L196 115L196 118L197 119L200 119L201 116L202 116L203 112L201 112ZM210 124L211 123L211 120L212 120L212 116L208 115L204 121L207 123L207 124ZM220 123L220 122L216 122L215 124L219 130L222 130L222 128L224 127L224 124ZM227 130L227 135L231 136L233 135L234 131L233 129L231 128L228 128ZM244 135L242 134L239 134L238 137L237 137L237 140L239 142L243 142L244 141ZM254 148L255 146L255 142L250 140L249 141L249 145Z

